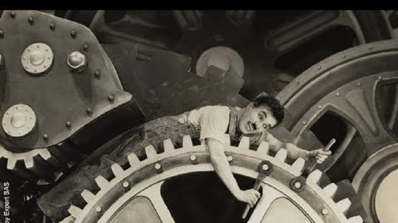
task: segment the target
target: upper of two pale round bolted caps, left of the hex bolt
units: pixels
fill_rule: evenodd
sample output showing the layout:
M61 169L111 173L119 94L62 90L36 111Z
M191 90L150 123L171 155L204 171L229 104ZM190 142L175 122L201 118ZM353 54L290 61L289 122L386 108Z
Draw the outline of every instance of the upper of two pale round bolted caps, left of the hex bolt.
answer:
M21 56L23 69L33 74L47 71L53 60L54 55L51 47L40 42L26 47Z

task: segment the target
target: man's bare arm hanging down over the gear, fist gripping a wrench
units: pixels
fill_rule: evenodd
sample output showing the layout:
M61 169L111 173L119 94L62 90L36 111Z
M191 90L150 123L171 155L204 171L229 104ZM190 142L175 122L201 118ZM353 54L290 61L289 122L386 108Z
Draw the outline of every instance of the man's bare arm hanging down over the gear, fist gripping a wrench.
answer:
M239 185L232 174L227 156L224 153L224 145L213 138L207 138L206 145L209 148L210 159L213 168L221 181L227 186L237 200L248 203L251 207L253 207L258 201L260 193L254 189L243 191L239 188Z

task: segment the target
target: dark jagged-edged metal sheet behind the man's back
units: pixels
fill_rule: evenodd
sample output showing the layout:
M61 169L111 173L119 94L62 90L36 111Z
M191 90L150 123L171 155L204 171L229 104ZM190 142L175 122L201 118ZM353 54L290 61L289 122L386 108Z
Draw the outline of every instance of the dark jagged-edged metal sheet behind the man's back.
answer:
M123 88L134 95L147 120L206 105L248 104L238 94L243 79L233 71L212 66L205 77L198 77L189 72L190 58L184 55L161 50L142 55L136 47L113 44L105 44L104 49L118 70Z

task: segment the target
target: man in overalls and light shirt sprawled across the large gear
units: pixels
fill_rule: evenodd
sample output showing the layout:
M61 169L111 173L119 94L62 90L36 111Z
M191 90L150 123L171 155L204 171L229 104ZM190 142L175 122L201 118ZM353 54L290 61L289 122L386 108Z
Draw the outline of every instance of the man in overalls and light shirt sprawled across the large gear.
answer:
M85 202L80 193L84 189L96 189L95 177L102 175L107 179L112 178L110 166L113 163L126 165L127 155L131 152L140 160L145 159L145 146L152 144L157 152L161 153L161 146L157 145L161 145L163 140L169 138L178 146L184 135L190 135L193 139L205 142L214 170L236 199L253 207L260 193L254 189L239 188L224 153L226 133L230 135L232 142L239 141L242 136L248 136L251 144L259 145L261 141L267 141L271 145L269 149L274 152L278 152L282 147L286 148L287 156L292 160L301 157L306 160L316 159L318 163L322 163L331 154L330 151L322 151L322 148L313 151L303 150L273 137L267 130L276 127L283 117L284 109L279 101L262 93L245 108L205 106L181 115L166 116L147 122L124 134L121 143L119 141L110 154L103 156L101 163L78 169L41 196L38 205L44 214L58 222L69 215L67 209L72 201L74 205L84 206Z

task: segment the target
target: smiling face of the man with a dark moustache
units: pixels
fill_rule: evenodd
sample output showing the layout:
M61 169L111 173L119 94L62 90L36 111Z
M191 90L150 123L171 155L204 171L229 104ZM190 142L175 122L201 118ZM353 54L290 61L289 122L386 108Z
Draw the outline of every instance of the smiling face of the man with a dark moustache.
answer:
M250 103L238 120L238 128L243 134L253 134L273 128L277 123L277 119L273 117L272 112L267 106L255 108L253 103Z

